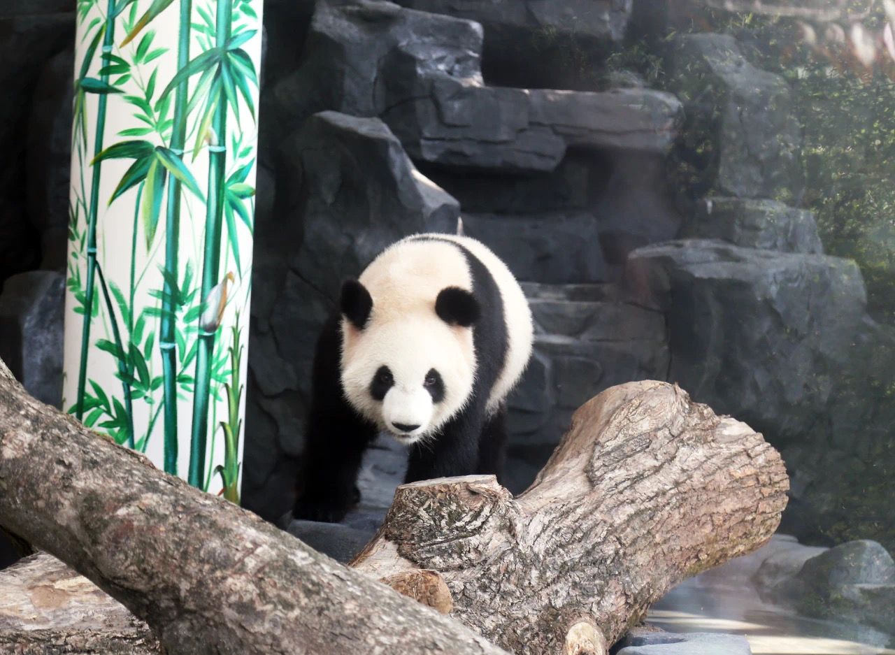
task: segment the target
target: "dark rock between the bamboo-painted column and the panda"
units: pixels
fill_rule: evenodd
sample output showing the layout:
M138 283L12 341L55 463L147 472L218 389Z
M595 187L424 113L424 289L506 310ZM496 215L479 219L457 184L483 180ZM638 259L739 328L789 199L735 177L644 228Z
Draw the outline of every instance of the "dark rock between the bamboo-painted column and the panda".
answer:
M282 156L293 186L256 231L243 478L246 506L269 518L291 505L313 348L341 280L407 234L455 232L459 216L379 119L312 116Z

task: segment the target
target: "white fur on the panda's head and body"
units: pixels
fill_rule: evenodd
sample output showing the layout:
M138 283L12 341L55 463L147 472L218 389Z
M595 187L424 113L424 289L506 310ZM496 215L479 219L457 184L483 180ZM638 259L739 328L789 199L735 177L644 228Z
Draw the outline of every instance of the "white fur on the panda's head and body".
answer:
M450 234L432 236L461 243L482 260L503 298L507 359L488 399L487 412L493 413L516 385L531 355L531 310L509 269L481 242ZM473 276L466 259L450 243L408 237L374 259L359 281L370 292L373 309L363 330L347 319L342 321L345 395L358 412L403 443L429 437L463 409L473 390L474 326L449 326L435 313L436 298L445 287L472 291ZM378 402L369 389L383 364L391 370L395 386ZM422 386L433 368L445 386L439 404L431 402ZM420 428L407 435L393 427L395 422Z

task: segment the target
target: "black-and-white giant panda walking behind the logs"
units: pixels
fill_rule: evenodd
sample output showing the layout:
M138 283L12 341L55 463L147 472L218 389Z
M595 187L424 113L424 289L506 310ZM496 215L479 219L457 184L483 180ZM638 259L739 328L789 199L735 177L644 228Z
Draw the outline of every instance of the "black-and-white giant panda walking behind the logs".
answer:
M532 342L522 289L481 242L414 234L382 251L342 283L316 345L294 517L340 521L380 432L408 447L405 482L500 475Z

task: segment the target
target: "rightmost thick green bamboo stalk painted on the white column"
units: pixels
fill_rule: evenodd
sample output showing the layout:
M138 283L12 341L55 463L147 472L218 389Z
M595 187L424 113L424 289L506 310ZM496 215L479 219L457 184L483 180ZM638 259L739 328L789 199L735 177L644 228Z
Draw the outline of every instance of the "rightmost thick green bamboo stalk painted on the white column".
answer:
M217 47L223 51L230 38L232 22L231 0L217 0ZM202 263L203 314L216 311L209 302L215 298L211 293L217 287L221 294L220 305L226 302L226 280L218 285L218 267L220 264L221 224L224 216L225 175L226 175L226 58L222 56L217 75L220 80L213 85L217 89L217 106L211 123L212 132L209 140L209 192L205 217L205 252ZM187 481L198 487L204 478L205 447L209 431L209 385L211 382L210 363L214 354L215 337L220 320L215 322L200 320L199 354L196 358L196 391L192 404L192 439L190 441L190 470Z

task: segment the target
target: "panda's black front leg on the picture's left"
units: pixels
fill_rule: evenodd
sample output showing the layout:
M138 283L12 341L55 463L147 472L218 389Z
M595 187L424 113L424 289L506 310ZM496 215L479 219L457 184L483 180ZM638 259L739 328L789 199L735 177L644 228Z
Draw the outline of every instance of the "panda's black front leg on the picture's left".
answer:
M341 521L360 499L357 474L376 427L345 400L339 379L339 319L331 317L317 341L311 373L311 410L303 467L293 507L296 519Z

